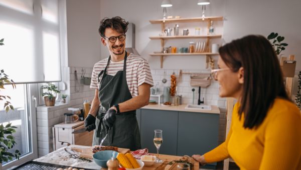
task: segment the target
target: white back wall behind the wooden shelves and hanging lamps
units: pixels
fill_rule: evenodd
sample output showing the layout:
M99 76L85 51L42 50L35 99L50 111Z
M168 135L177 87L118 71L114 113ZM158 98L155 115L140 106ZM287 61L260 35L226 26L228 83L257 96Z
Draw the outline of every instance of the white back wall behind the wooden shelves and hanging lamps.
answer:
M160 68L159 57L150 57L148 53L160 50L159 40L150 40L148 36L160 33L160 24L150 24L150 19L160 19L163 15L162 0L101 0L101 18L107 16L121 16L136 24L136 49L146 59L152 68ZM201 6L197 0L172 0L173 6L168 8L169 15L181 17L201 16ZM301 51L301 6L300 0L211 0L207 6L206 15L225 17L223 38L225 42L247 34L268 35L272 31L285 36L288 43L283 54L295 54L300 60ZM180 23L184 26L183 23ZM192 25L194 25L192 23ZM171 25L174 27L174 25ZM192 31L193 32L193 31ZM184 41L184 42L183 42ZM167 44L185 44L189 40L167 42ZM101 47L101 57L107 57L107 49ZM202 56L168 56L164 68L174 69L204 69ZM183 64L185 63L185 64ZM297 62L297 69L301 69L301 60Z

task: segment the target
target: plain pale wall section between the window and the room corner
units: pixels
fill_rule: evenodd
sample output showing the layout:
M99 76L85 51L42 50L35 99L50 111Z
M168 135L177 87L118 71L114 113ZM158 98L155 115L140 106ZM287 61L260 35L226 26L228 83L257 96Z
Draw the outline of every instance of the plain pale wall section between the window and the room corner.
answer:
M100 0L67 0L68 66L93 67L100 60Z

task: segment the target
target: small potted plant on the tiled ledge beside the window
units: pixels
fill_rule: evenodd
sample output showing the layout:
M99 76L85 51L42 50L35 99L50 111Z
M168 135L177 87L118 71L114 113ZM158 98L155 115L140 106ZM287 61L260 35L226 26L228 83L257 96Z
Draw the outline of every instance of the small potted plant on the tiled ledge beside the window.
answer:
M57 86L48 82L47 85L42 85L41 88L43 89L42 96L44 96L45 105L54 106L56 94L60 93L60 91L57 90ZM46 89L46 92L44 92L44 89Z

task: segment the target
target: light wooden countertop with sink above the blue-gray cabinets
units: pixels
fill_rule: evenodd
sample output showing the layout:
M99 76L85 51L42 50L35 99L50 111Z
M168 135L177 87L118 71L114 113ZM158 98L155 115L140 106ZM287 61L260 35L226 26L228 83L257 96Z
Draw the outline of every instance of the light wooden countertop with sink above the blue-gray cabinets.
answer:
M203 113L215 113L219 114L220 109L216 105L211 105L211 110L205 109L193 109L193 108L185 108L187 104L181 104L178 106L163 106L159 104L148 104L142 107L143 109L157 109L157 110L173 110L173 111L189 111L189 112L203 112Z

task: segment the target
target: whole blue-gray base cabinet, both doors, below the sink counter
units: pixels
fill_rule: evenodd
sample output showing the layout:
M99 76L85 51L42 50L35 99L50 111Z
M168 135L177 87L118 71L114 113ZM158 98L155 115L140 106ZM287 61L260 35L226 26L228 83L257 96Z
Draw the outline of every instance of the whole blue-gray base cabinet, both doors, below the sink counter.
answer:
M149 152L157 152L155 129L163 130L162 154L203 154L218 145L220 114L143 108L140 114L141 146Z

